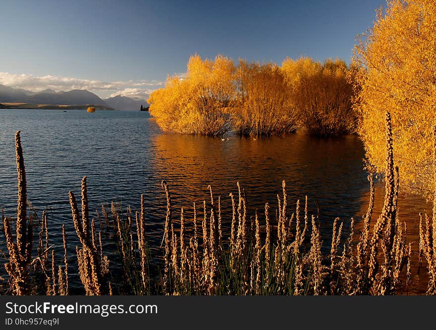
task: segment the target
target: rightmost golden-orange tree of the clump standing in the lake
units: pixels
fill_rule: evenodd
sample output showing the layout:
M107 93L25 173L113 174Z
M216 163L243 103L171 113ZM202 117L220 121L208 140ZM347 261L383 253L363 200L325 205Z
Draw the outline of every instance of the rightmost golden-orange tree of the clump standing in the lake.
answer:
M337 136L354 131L353 88L344 61L328 59L322 65L310 58L287 58L282 70L306 133Z

